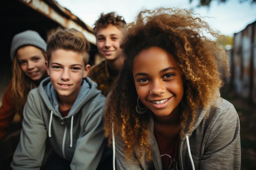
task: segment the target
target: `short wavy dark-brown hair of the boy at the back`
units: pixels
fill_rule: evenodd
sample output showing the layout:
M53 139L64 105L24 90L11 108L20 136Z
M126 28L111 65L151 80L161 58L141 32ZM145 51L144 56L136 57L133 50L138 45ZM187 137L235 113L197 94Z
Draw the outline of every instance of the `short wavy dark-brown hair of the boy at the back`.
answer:
M115 12L110 12L107 14L101 13L100 18L94 23L94 34L97 34L97 30L100 27L107 27L110 24L122 29L126 22L122 16L117 15Z

